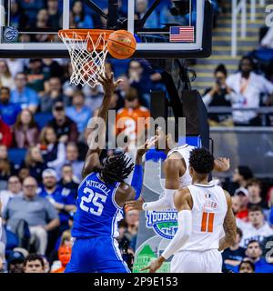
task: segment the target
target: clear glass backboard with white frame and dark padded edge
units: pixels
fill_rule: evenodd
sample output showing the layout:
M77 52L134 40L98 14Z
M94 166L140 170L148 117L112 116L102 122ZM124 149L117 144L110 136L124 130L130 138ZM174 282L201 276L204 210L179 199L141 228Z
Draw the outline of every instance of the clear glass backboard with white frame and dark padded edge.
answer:
M68 57L57 35L67 28L126 29L134 57L211 54L208 0L0 0L0 25L0 57Z

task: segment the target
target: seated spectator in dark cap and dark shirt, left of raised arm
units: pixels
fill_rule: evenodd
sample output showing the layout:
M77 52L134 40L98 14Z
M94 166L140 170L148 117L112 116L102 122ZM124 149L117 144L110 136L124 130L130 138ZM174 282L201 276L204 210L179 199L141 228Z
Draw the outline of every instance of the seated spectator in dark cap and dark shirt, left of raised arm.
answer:
M57 101L53 107L54 119L48 125L54 128L57 139L64 143L76 142L78 132L76 123L66 116L65 105L61 101Z

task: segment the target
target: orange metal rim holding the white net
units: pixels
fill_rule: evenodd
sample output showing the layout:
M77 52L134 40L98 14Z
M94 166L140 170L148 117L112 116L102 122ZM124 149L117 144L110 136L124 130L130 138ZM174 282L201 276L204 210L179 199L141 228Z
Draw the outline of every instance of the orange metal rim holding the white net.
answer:
M83 40L86 39L87 35L91 35L92 36L92 40L93 42L96 44L99 36L104 35L105 39L107 40L109 35L111 35L112 33L114 33L115 30L109 30L109 29L62 29L59 30L58 35L62 38L62 37L66 37L66 38L71 38L74 39L75 34L80 36ZM90 47L92 48L92 43L89 43ZM96 47L97 50L103 50L104 44L98 44L98 46Z

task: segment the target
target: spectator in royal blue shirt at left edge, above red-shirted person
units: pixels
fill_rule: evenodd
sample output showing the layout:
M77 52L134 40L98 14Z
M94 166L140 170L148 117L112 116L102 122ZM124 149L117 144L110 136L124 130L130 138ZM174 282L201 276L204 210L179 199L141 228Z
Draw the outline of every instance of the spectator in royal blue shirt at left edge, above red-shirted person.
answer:
M10 89L8 87L0 88L0 115L6 125L14 125L21 107L10 102Z

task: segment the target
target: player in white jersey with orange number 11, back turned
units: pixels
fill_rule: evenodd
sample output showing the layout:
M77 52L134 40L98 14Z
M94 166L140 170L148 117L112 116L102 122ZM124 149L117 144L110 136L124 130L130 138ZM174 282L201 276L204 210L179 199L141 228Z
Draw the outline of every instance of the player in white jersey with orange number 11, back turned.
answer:
M231 198L220 186L210 185L208 175L214 166L213 156L204 148L194 149L189 157L192 185L174 196L178 211L178 229L162 255L152 262L150 272L170 257L171 273L220 273L221 250L235 243L236 220ZM222 236L222 230L225 236Z

